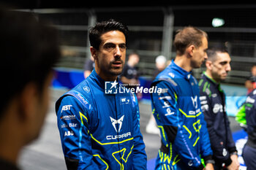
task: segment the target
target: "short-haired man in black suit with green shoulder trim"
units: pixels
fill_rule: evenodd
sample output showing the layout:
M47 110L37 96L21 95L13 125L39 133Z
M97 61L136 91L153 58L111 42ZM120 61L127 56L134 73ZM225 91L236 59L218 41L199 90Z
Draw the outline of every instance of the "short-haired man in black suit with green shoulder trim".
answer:
M214 152L214 169L238 170L238 153L227 117L225 93L220 86L220 82L231 71L231 58L224 47L208 49L207 55L206 72L203 72L198 84L203 115ZM223 163L225 167L222 166Z

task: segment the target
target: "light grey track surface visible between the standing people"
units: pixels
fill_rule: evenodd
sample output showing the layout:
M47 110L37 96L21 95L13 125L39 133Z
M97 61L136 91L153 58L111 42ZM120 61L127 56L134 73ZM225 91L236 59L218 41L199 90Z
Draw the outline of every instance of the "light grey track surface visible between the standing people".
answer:
M51 90L50 109L42 127L39 139L24 147L20 154L20 167L24 170L64 170L67 169L64 163L64 156L61 150L59 130L54 112L55 101L65 90ZM157 157L160 146L158 135L147 134L146 124L151 116L151 105L140 102L140 128L143 140L146 144L148 160ZM230 117L232 131L240 130L236 120Z

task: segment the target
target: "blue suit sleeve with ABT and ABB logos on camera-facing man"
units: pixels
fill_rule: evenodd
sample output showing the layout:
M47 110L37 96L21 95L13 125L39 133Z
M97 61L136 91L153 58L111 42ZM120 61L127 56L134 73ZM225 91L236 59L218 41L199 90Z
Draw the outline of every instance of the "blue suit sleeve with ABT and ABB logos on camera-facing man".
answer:
M97 115L89 96L83 93L86 90L83 89L84 83L56 101L59 134L68 170L96 170L99 167L95 164L91 147L91 132L97 128Z

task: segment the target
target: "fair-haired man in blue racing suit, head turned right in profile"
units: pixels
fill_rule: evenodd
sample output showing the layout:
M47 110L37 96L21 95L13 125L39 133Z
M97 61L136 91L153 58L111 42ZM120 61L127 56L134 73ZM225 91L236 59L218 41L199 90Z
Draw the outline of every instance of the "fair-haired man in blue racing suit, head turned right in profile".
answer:
M153 115L162 136L155 169L213 170L199 88L192 76L192 69L200 68L207 58L208 36L195 27L185 27L177 32L174 46L175 60L151 85L162 88L162 93L151 95Z

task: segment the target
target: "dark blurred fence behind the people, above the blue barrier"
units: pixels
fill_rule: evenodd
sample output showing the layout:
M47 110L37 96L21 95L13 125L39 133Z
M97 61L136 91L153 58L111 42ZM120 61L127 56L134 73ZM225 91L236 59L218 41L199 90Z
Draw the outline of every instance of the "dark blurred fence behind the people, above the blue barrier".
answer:
M25 9L31 10L31 9ZM83 69L90 57L88 29L100 20L114 18L129 28L127 54L136 50L143 77L151 78L157 55L175 57L173 36L183 26L208 33L209 47L225 45L232 57L226 83L244 85L256 63L256 5L204 5L178 7L101 7L90 9L32 9L50 20L61 37L63 57L56 67ZM194 70L196 78L205 69Z

